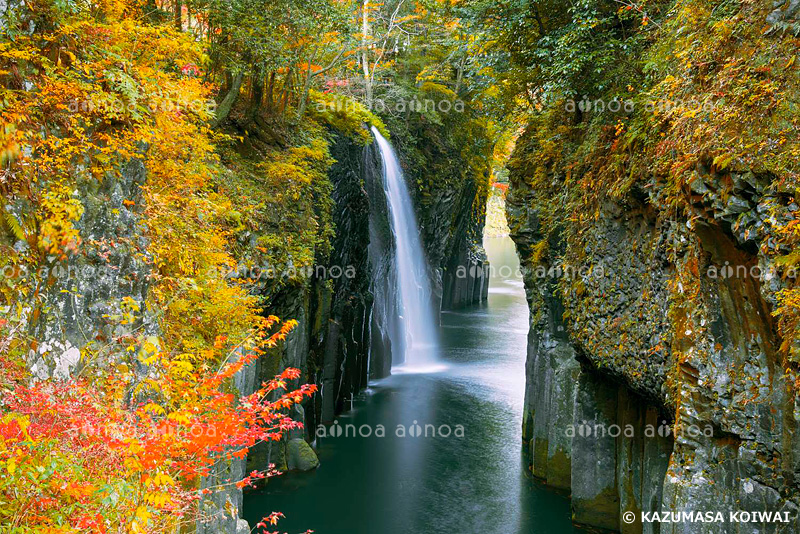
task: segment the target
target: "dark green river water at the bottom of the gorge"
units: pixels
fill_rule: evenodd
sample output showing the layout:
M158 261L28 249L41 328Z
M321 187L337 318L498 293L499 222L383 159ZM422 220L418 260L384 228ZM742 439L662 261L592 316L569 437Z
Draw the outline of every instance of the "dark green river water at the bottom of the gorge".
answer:
M486 247L495 274L517 266L510 239ZM522 281L493 277L488 305L442 316L445 371L373 382L338 419L383 425L385 437L319 439L319 469L247 495L246 519L281 511L289 534L573 532L568 500L532 481L521 453L527 330ZM437 436L408 435L415 423ZM439 435L442 425L463 437Z

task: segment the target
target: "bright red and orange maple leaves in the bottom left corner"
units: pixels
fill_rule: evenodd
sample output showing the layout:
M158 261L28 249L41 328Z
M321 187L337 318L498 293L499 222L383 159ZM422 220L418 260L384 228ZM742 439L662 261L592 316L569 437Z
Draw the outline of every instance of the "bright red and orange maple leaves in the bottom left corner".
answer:
M286 391L286 381L299 375L288 369L237 402L219 384L244 361L200 379L190 398L169 410L152 401L121 404L113 392L122 383L15 387L0 424L0 521L18 532L167 532L193 523L202 492L212 491L199 489L199 478L297 427L282 410L314 391ZM277 400L267 400L274 391ZM244 487L271 474L252 472L234 483Z

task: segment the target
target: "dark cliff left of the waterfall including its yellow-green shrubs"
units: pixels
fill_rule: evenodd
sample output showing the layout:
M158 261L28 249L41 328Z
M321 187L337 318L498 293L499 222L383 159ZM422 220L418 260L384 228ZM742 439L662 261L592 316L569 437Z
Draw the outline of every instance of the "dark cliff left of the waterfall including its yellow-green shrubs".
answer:
M304 428L254 447L248 472L269 464L279 471L315 468L319 462L309 444L317 425L347 409L366 386L371 360L384 366L381 356L370 356L372 268L366 246L365 180L380 176L380 167L361 128L319 128L306 146L297 145L291 132L280 132L284 147L253 136L227 153L222 183L248 213L238 228L240 259L233 275L262 297L270 314L297 321L241 383L252 391L292 367L319 391L290 414ZM266 164L259 163L262 158ZM287 182L295 174L300 180Z

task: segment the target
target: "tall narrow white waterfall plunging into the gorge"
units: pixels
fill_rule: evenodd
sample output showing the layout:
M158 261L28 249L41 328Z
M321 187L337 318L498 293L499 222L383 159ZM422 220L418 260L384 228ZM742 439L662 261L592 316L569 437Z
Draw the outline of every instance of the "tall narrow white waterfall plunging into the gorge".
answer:
M411 204L400 162L392 145L377 128L372 133L378 141L383 160L383 186L389 205L389 224L395 244L395 269L397 271L398 309L402 310L402 343L392 340L392 345L405 346L403 365L399 372L432 372L441 369L438 360L437 322L431 302L431 284L428 265L422 250L419 227Z

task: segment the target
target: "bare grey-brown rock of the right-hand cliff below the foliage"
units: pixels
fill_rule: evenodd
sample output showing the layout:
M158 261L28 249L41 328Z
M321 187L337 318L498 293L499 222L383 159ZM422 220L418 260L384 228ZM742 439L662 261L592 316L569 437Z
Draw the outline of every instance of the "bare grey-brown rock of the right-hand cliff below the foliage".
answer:
M528 149L523 138L517 156ZM781 284L752 274L770 267L765 219L787 202L764 177L698 169L704 216L694 221L658 217L634 190L594 222L556 229L517 156L507 210L531 307L533 474L571 490L573 519L589 526L800 531L800 406L771 314ZM714 193L722 180L732 194ZM788 512L788 522L730 521L739 510ZM643 523L651 511L724 521Z

